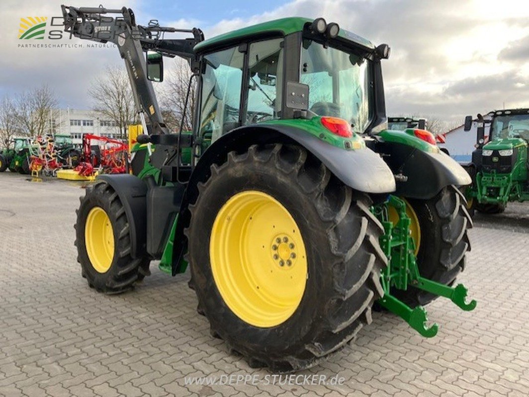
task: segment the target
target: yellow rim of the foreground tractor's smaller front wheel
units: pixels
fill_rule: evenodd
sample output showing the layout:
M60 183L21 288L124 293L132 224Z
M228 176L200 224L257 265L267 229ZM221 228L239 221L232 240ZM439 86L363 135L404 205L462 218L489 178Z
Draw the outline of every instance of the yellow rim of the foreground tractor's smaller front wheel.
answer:
M107 213L94 207L85 224L85 246L92 267L99 273L110 269L114 259L114 230Z

